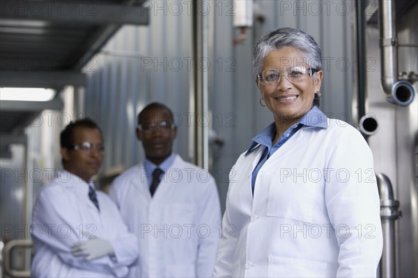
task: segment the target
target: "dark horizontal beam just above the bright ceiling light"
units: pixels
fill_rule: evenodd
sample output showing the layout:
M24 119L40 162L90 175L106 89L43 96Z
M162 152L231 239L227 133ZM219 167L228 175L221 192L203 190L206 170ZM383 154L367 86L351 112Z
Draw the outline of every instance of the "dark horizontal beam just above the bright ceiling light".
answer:
M78 72L0 72L0 87L61 88L85 84L86 75Z

